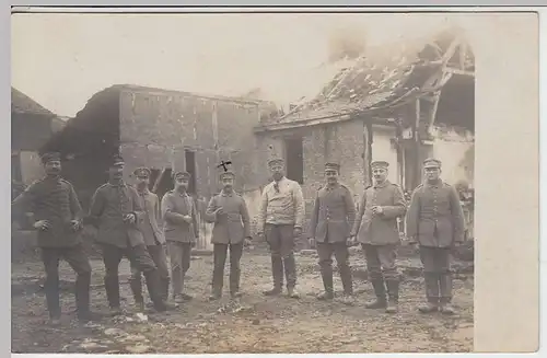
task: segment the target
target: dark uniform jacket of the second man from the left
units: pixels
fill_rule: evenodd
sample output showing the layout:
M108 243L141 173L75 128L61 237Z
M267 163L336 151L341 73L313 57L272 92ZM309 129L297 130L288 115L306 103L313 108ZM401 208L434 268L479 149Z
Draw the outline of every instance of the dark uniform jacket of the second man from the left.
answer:
M136 222L124 222L124 215L133 213ZM90 221L97 227L98 243L118 247L143 245L139 226L146 213L137 189L125 184L106 183L91 199Z

